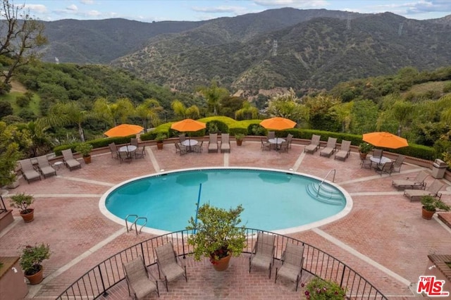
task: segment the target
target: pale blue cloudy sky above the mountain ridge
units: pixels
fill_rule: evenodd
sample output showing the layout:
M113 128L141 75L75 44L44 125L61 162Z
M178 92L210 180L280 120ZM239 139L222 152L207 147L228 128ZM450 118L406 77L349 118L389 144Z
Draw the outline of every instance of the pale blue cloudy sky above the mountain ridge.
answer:
M40 20L97 20L126 18L142 22L209 20L293 7L383 13L390 11L416 20L451 15L451 0L14 0Z

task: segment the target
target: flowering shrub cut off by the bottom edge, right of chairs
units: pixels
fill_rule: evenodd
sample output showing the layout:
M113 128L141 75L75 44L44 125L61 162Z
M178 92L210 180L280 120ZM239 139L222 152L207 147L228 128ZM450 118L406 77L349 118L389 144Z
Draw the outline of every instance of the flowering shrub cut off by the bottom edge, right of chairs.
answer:
M346 299L346 290L342 289L337 282L330 280L322 280L315 277L310 280L307 285L301 284L305 287L305 296L309 300L339 300Z

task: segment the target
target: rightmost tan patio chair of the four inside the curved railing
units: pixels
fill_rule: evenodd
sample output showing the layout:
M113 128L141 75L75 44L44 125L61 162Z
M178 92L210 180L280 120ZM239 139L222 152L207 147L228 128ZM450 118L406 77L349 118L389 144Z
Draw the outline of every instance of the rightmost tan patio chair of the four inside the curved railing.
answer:
M276 268L276 280L274 280L274 283L277 282L279 276L285 277L288 280L296 282L297 292L297 286L302 276L302 263L304 263L304 245L287 242L281 261L282 266L280 270Z

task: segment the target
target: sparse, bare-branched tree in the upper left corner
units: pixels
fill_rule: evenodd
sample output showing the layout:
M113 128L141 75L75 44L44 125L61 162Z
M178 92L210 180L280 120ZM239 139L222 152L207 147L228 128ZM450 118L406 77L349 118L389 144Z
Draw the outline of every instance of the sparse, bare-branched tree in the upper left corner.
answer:
M25 4L16 6L13 1L2 1L0 15L5 21L0 27L0 57L7 67L0 73L0 93L4 94L11 89L11 77L17 68L38 58L37 49L47 44L47 38L44 37L44 23L30 16Z

